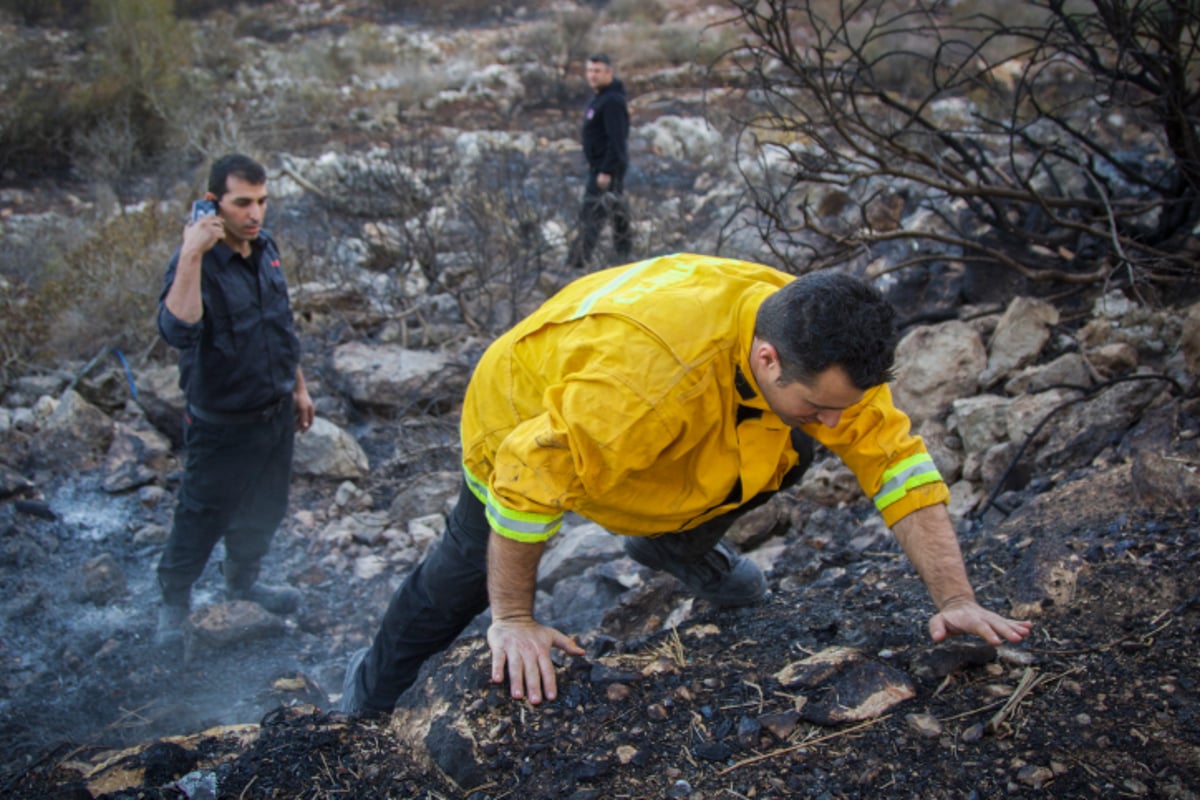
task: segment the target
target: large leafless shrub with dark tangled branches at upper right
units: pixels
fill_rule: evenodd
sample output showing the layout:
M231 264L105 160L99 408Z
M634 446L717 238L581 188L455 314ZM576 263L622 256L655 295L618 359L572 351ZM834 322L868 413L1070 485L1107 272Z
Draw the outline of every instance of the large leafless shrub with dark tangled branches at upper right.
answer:
M892 269L952 258L1037 282L1195 279L1194 2L736 5L754 210L738 218L780 261L892 246ZM920 224L901 227L906 210Z

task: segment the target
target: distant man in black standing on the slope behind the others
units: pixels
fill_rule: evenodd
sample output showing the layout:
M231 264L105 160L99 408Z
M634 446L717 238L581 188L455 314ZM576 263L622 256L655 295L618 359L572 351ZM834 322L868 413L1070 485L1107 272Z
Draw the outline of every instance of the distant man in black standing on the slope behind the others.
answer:
M583 114L583 157L588 181L580 210L580 233L571 243L571 267L587 269L605 221L612 217L613 246L618 263L630 260L632 234L629 204L624 197L629 168L629 106L625 84L613 77L612 61L604 53L588 58L587 79L595 95Z

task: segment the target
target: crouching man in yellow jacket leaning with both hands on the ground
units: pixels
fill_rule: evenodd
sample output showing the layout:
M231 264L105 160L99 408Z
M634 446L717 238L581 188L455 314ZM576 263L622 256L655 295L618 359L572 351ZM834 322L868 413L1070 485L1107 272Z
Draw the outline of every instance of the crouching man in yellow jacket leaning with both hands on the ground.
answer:
M1021 640L1028 622L976 602L949 492L892 403L894 317L847 275L796 278L692 254L568 285L475 368L458 503L371 648L352 657L342 710L390 711L421 663L488 604L492 680L506 673L512 697L553 699L551 649L582 650L534 619L533 600L546 540L568 511L625 536L631 558L698 597L757 601L762 572L722 534L799 480L812 440L892 527L938 608L935 640Z

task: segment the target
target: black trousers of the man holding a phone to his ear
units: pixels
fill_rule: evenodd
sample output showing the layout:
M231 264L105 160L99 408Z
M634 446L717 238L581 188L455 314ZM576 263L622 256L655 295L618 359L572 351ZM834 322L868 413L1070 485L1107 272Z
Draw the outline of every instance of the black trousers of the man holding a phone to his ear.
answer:
M163 602L185 606L212 548L224 539L230 569L253 582L288 507L295 432L288 395L260 419L184 419L184 481L162 558Z

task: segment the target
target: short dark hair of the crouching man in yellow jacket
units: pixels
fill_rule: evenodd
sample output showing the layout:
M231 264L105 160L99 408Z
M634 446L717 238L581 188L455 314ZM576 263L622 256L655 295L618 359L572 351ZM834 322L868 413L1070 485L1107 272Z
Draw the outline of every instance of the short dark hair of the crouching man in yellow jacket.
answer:
M810 272L763 301L755 336L779 353L781 384L811 384L839 366L865 391L892 378L895 315L870 283L844 272Z

